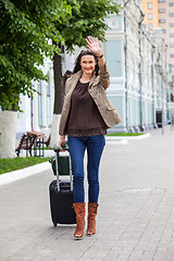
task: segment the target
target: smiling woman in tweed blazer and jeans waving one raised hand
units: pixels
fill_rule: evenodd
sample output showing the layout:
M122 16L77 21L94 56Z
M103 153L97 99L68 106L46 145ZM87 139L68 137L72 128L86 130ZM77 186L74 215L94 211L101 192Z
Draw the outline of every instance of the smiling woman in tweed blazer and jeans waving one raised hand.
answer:
M85 226L84 153L87 148L88 225L87 235L96 233L99 197L99 163L105 145L107 128L121 122L107 98L110 75L98 39L88 36L89 50L76 59L73 75L65 84L65 99L60 121L59 148L69 139L73 169L75 239L82 239Z

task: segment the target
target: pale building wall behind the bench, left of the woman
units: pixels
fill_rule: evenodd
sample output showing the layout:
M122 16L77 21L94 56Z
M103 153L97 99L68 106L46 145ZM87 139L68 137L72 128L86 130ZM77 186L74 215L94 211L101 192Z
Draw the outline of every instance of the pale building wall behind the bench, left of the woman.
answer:
M23 133L29 130L42 132L48 134L52 124L54 84L53 65L49 59L45 60L44 73L48 75L49 80L34 83L36 92L33 99L21 96L21 109L17 113L17 139Z

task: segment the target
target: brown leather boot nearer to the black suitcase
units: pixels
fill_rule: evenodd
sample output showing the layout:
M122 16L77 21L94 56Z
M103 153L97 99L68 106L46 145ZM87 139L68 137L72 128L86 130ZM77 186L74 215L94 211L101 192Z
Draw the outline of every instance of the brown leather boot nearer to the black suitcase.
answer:
M73 203L75 213L76 213L76 229L74 232L75 239L82 239L84 236L84 226L85 226L85 203L78 202Z

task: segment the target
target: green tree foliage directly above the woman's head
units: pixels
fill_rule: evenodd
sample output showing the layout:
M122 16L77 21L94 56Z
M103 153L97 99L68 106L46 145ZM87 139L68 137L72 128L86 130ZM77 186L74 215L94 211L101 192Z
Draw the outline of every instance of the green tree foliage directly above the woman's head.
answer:
M65 40L66 50L73 51L74 46L85 46L87 36L104 40L108 14L119 13L121 5L115 0L67 0L72 7L72 15L63 17L57 23L57 28Z

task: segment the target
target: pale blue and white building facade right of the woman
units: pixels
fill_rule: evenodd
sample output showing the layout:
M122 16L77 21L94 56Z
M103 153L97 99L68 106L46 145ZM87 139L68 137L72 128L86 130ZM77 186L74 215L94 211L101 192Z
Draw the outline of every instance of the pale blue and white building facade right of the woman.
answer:
M139 132L166 124L169 90L166 78L166 44L161 29L154 35L146 28L139 1L122 1L120 15L107 23L105 57L111 73L108 96L122 116L115 128ZM159 54L160 53L160 54ZM160 58L159 58L160 55ZM160 60L160 61L159 61ZM162 67L162 75L157 71Z

